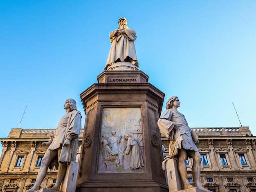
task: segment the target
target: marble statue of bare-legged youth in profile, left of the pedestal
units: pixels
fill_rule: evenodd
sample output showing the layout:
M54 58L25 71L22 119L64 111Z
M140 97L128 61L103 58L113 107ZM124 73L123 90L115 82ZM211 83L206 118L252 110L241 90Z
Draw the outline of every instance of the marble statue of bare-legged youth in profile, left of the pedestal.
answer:
M57 162L54 165L58 169L58 173L56 184L51 190L59 191L67 165L76 159L78 138L81 130L81 113L76 109L76 101L71 98L66 100L64 109L66 109L67 113L59 121L54 136L51 136L48 142L42 143L42 146L49 145L49 147L43 156L36 183L27 192L39 190L47 174L48 167L52 169L54 162Z

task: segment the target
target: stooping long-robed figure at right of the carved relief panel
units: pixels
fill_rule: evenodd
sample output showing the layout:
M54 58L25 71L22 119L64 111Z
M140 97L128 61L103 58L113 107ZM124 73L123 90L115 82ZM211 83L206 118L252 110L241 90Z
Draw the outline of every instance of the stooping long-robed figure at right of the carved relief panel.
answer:
M130 158L130 167L132 169L139 169L144 167L143 156L137 141L133 137L130 137L128 134L124 135L124 138L127 140L125 155L131 154Z

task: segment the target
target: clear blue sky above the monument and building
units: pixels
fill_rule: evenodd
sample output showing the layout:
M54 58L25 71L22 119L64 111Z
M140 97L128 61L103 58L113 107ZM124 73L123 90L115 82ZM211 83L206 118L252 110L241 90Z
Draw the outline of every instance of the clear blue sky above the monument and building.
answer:
M63 104L97 83L126 17L139 69L180 98L190 127L243 126L256 135L256 1L0 1L0 138L56 128Z

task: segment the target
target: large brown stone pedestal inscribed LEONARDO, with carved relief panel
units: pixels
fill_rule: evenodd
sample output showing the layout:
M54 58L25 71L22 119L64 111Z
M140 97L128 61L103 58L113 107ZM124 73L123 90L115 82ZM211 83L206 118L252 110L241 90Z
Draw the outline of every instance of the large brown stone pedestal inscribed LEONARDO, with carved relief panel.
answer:
M76 192L168 192L157 127L164 93L142 71L113 70L80 96L86 118Z

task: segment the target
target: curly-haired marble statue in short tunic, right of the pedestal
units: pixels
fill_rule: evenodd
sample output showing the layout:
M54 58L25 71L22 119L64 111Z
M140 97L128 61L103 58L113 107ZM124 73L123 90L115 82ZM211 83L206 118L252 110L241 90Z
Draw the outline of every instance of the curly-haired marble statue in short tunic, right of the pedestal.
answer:
M178 170L184 189L193 188L193 185L188 181L186 169L187 156L193 158L192 174L194 186L202 191L211 192L203 188L200 183L201 156L195 145L195 143L199 142L199 138L190 129L185 116L177 111L178 107L180 107L179 98L176 96L169 98L166 103L166 110L157 122L161 132L170 140L169 156L167 158L178 157Z

